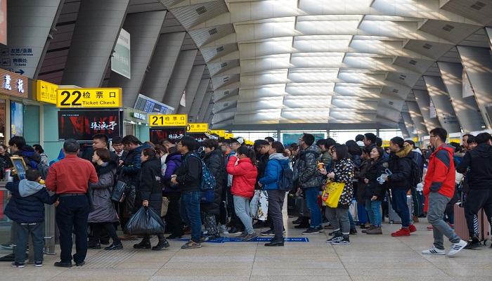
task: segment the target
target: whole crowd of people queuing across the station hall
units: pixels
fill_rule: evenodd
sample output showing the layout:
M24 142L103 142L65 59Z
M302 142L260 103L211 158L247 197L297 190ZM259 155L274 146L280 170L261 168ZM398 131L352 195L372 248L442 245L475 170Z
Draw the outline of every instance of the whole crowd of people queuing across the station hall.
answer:
M463 147L446 144L446 136L442 128L430 131L427 151L416 148L411 140L394 137L385 151L382 140L373 133L358 135L346 143L332 138L315 141L312 134L304 133L299 143L287 147L267 137L255 141L252 148L245 145L243 138L212 136L199 144L184 136L176 143L167 139L142 143L129 135L113 138L110 151L108 136L98 133L93 136L92 148L84 151L74 139L65 141L60 156L49 166L44 184L41 178L47 157L41 146L34 149L24 138L15 136L8 145L13 155L24 159L27 171L24 177L17 176L6 186L12 199L5 214L15 221L7 246L17 244L12 266L25 266L23 256L29 234L35 265L42 266L44 204L56 206L61 252L55 266L72 267L72 260L75 266L83 266L87 250L101 249L101 244L109 244L110 239L112 244L105 250L123 249L121 240L138 239L135 235L118 237L117 227L123 228L141 207L160 214L163 197L169 200L167 214L162 217L165 230L156 233L155 246L149 235L142 235L142 240L134 244L135 249L165 249L169 247L168 240L188 234L190 240L182 249L200 248L203 242L221 235L233 235L242 241L270 236L266 247L283 246L286 192L304 198L309 209L309 214L292 222L297 224L295 228L305 229L302 235L331 229L327 243L350 244L350 235L357 230L349 209L356 200L367 216L366 222L361 223L363 233L382 235L382 221L389 208L401 218L401 229L391 233L393 237L410 236L416 231L413 223L427 215L434 245L422 254L446 254L446 236L452 243L447 254L452 256L481 244L476 223L480 209L491 221L492 136L465 134ZM12 166L6 150L5 145L0 145L0 162ZM202 200L203 165L215 180L213 198L206 202ZM290 190L280 188L285 169L293 171ZM420 170L416 174L424 175L418 184L412 181L415 169ZM124 200L115 203L111 197L117 181L124 181L127 189ZM336 186L336 191L330 186ZM461 190L461 186L466 189ZM53 195L48 195L47 190ZM268 214L260 216L266 221L252 218L250 200L255 190L261 190L268 202ZM319 203L323 190L330 190L329 203ZM453 231L454 214L448 208L461 192L466 194L468 242ZM407 203L410 194L413 208ZM257 233L255 229L262 227L270 229ZM76 246L73 255L72 233ZM166 237L165 233L169 235Z

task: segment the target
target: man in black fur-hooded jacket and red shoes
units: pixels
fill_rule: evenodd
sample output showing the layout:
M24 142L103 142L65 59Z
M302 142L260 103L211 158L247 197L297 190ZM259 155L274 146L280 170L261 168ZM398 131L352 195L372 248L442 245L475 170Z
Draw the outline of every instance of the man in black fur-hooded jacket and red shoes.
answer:
M410 210L407 205L407 193L410 190L408 177L410 176L413 155L410 154L412 147L403 146L403 138L396 136L389 141L391 155L389 155L388 168L391 175L385 175L388 188L391 189L391 207L401 218L401 229L391 233L393 237L410 236L417 231L410 221Z

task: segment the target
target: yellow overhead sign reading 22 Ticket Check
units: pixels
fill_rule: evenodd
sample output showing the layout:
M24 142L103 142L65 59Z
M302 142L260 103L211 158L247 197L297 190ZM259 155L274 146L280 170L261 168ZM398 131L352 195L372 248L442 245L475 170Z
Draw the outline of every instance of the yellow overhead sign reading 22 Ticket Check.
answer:
M58 89L56 107L122 107L121 88Z

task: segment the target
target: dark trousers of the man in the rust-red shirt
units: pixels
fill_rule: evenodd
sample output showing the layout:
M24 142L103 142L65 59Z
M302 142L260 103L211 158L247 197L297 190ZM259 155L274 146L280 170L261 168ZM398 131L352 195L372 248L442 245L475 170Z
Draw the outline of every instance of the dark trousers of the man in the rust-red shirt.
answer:
M87 217L89 201L87 196L60 197L56 207L56 225L60 230L60 261L72 262L72 234L75 234L75 263L82 263L87 254Z

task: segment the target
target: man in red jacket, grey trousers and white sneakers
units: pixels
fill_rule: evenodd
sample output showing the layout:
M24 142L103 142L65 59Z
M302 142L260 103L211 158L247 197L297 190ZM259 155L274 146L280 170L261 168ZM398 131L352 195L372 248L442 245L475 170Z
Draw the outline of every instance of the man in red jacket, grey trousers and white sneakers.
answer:
M430 143L436 151L429 158L427 174L425 175L424 195L427 201L427 220L434 231L434 245L422 254L444 255L444 237L453 243L448 256L453 256L467 245L443 220L446 204L453 198L455 192L455 166L453 162L454 148L445 143L448 132L442 128L430 131Z

